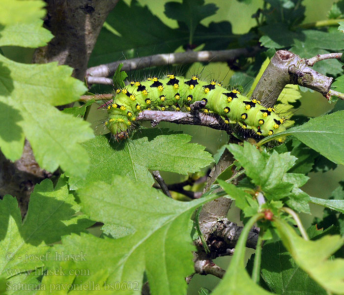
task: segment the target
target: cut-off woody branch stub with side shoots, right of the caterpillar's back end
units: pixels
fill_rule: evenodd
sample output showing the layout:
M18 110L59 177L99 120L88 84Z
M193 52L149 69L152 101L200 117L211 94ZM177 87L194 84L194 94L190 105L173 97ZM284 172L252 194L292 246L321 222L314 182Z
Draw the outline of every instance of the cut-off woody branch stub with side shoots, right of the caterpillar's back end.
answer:
M287 84L296 84L320 92L330 98L333 78L316 72L308 65L323 59L340 59L340 54L318 55L312 59L301 59L287 50L279 50L270 60L261 76L252 98L261 101L265 107L273 106Z

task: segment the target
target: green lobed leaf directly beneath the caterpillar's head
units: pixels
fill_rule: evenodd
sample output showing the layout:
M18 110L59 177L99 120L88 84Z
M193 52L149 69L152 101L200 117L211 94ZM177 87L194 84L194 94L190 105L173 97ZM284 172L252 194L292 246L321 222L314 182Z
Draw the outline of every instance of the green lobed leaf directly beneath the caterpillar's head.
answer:
M90 156L86 179L70 177L71 189L89 182L111 182L113 175L130 177L150 185L154 180L151 170L187 174L199 171L213 162L211 155L198 144L190 144L186 134L162 135L161 130L140 129L131 139L115 142L111 135L96 136L83 146Z

